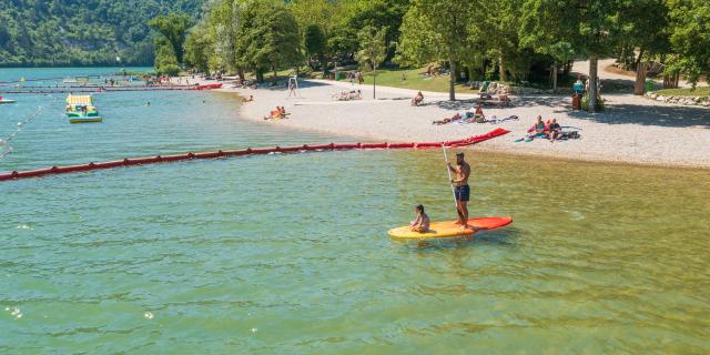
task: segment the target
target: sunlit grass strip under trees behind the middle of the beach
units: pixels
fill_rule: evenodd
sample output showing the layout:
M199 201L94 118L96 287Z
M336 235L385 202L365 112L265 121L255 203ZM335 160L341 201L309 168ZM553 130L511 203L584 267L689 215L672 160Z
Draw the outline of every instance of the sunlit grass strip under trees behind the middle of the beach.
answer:
M418 69L378 69L377 85L413 89L433 92L448 92L448 75L437 75L426 78L426 68ZM342 81L347 81L343 79ZM373 74L365 73L365 84L373 84ZM470 90L468 87L457 83L457 93L478 93L478 90Z

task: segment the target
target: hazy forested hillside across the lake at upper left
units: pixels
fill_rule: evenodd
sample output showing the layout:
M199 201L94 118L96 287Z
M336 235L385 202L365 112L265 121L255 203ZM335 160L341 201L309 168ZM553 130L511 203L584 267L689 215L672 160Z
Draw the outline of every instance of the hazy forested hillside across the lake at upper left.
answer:
M145 24L203 0L0 0L0 67L152 65Z

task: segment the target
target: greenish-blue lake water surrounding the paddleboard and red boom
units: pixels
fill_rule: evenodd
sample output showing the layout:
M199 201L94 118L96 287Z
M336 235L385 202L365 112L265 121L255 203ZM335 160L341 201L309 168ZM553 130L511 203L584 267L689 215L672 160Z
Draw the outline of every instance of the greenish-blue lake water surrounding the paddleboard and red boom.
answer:
M109 69L0 70L20 75ZM354 139L240 120L215 92L7 95L0 171ZM146 102L151 101L148 106ZM467 153L471 241L442 152L277 154L0 183L0 353L707 354L710 172Z

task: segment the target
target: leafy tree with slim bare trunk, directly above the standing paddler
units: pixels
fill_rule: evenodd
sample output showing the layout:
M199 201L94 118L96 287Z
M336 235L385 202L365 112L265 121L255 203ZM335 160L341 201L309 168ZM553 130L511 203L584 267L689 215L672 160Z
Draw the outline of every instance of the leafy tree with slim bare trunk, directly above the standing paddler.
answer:
M399 60L449 63L449 100L456 100L456 64L471 47L473 0L413 0L402 23Z

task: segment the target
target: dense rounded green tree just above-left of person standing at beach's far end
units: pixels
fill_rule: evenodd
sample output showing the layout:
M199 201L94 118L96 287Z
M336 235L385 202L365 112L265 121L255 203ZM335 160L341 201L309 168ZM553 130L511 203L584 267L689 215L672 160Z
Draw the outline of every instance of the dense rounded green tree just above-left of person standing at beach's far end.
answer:
M243 4L236 39L237 63L256 72L274 72L301 61L301 34L293 13L281 1L251 0Z

